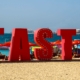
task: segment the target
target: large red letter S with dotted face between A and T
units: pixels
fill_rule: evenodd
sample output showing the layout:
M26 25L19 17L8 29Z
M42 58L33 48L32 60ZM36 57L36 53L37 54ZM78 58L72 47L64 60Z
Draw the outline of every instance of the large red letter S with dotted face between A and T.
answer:
M45 38L52 38L53 33L50 29L43 28L34 32L35 42L41 46L41 49L35 49L34 55L38 60L50 60L53 55L53 48Z

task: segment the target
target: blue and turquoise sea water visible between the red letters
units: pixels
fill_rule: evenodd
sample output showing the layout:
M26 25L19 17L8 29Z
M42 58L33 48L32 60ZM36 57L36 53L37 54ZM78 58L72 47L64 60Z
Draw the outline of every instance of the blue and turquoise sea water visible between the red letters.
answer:
M11 34L10 33L5 33L4 35L0 35L0 43L4 43L4 42L8 42L11 40ZM72 37L72 40L74 39L80 39L80 34L77 34L76 36L73 36ZM46 38L47 41L49 42L53 42L53 41L56 41L56 40L61 40L61 37L60 36L57 36L56 34L53 35L52 38ZM29 42L32 42L32 43L35 43L34 41L34 34L28 34L28 41ZM0 50L0 52L2 54L5 54L8 56L9 54L9 50Z

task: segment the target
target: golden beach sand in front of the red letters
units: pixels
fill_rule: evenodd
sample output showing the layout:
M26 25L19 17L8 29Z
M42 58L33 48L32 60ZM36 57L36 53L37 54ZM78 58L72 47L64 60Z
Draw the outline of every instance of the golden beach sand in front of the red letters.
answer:
M0 80L80 80L80 61L0 63Z

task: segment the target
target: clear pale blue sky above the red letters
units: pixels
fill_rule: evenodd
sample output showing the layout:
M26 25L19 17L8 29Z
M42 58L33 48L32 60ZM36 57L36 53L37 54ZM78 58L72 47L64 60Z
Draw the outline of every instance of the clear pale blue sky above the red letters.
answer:
M79 29L80 0L0 0L0 27Z

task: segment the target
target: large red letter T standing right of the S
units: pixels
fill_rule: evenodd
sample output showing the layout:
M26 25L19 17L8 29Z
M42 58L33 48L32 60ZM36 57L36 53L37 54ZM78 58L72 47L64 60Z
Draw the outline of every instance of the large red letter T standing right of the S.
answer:
M62 60L72 60L72 36L76 29L60 29L57 34L62 36Z

